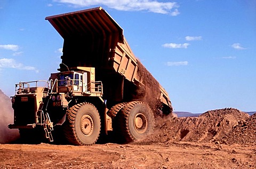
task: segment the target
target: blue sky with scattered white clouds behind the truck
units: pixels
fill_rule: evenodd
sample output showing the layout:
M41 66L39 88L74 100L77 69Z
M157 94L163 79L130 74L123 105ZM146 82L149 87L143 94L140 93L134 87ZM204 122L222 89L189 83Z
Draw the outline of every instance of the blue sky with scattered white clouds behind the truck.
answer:
M63 39L45 17L102 6L175 111L256 111L256 1L0 1L0 89L47 80Z

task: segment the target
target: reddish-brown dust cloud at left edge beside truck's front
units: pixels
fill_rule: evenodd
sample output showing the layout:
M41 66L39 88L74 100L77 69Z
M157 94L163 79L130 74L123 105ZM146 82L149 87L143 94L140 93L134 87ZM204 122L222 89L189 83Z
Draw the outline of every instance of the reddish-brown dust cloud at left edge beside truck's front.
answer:
M13 124L13 109L11 99L0 90L0 143L10 143L17 140L19 132L7 126Z

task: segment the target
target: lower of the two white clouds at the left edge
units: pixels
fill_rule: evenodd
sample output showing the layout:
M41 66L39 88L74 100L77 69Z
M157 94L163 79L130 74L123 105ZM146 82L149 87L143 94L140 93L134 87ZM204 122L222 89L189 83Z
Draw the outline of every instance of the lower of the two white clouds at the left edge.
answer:
M32 66L24 66L22 63L18 63L14 59L0 59L0 68L13 68L20 70L35 70L38 73L38 70Z

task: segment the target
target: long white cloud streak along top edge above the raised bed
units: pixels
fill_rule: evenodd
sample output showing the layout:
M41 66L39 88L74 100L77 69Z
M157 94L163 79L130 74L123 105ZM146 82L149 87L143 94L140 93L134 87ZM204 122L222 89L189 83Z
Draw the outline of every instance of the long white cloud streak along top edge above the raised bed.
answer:
M54 0L59 3L68 3L75 6L106 5L119 11L149 11L155 13L179 14L179 5L175 2L157 2L154 0Z

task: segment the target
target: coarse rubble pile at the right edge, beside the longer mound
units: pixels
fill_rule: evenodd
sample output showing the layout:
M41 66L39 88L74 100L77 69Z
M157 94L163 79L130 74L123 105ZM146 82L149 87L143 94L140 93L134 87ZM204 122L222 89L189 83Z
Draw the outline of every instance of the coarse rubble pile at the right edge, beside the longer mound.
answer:
M221 141L229 144L255 144L256 143L256 114L247 120L238 122L230 133L221 138Z

